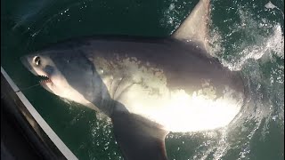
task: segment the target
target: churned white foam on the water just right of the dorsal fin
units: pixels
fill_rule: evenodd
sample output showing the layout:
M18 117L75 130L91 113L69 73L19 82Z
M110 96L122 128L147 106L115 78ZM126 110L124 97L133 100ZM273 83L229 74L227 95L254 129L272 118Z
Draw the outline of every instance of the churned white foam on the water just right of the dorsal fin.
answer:
M281 29L281 24L272 24L269 20L254 20L252 13L248 11L239 11L240 23L235 24L231 33L232 34L243 33L250 37L250 40L244 40L241 44L233 44L234 51L231 52L230 60L220 59L225 67L231 70L240 70L250 59L258 60L265 57L272 57L272 54L278 55L284 59L284 36ZM264 33L263 33L264 32ZM272 32L270 36L265 32ZM225 48L222 46L225 38L223 39L217 29L214 29L210 33L209 44L210 52L212 55L221 57L224 54Z

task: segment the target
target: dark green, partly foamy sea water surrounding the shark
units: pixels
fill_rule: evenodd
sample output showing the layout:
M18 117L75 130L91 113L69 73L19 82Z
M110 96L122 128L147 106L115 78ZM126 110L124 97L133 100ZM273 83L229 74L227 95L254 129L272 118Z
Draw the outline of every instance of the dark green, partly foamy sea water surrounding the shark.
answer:
M20 56L76 36L169 36L197 2L3 0L1 66L21 88L37 84ZM211 53L248 76L250 100L226 128L170 133L169 159L284 159L284 1L267 3L211 1ZM24 93L79 159L123 159L111 125L93 110L41 87Z

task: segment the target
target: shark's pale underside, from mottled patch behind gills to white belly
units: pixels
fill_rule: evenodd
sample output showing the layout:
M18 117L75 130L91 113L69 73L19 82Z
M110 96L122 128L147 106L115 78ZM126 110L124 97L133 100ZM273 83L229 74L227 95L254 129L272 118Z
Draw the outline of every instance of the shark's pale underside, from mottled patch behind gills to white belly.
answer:
M106 72L101 73L102 80L108 86L113 100L123 104L129 112L144 116L157 122L170 132L196 132L224 127L239 113L243 97L234 97L236 93L225 87L224 96L217 97L215 87L205 82L199 91L188 94L183 89L169 90L163 70L151 67L139 67L137 60L118 60L118 66L112 63L110 70L104 59L96 60ZM123 68L123 69L118 69ZM106 73L113 73L108 76ZM122 79L121 75L126 75ZM122 81L119 86L116 79ZM113 82L113 83L112 83ZM116 89L114 89L116 88ZM235 95L237 96L237 95Z

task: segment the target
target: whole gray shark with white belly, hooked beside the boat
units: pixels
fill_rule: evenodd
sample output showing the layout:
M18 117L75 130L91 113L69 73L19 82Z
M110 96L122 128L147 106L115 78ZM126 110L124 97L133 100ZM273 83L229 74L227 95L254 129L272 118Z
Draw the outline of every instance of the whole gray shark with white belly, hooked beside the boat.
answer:
M208 54L209 0L167 38L96 36L21 58L42 86L109 116L125 159L165 160L168 132L224 127L245 101L243 77Z

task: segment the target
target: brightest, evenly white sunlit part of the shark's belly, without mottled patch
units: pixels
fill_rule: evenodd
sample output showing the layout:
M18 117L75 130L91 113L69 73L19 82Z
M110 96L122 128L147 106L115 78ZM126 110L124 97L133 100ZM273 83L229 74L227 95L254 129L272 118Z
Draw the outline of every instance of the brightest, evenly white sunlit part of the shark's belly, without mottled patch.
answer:
M140 84L133 84L118 101L129 112L162 124L171 132L196 132L224 127L239 113L241 102L232 98L231 90L224 97L213 100L183 90L151 93ZM240 100L242 100L240 98Z

